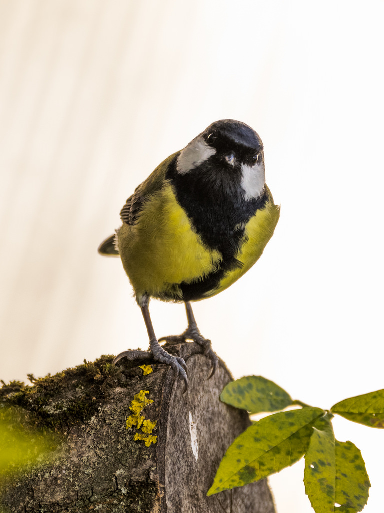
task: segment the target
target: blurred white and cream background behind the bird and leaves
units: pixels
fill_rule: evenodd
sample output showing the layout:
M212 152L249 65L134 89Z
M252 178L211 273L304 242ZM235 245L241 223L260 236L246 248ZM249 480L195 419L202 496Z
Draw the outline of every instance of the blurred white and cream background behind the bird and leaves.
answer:
M381 1L0 1L0 378L146 347L118 259L135 187L211 122L251 125L281 220L261 260L195 305L233 376L329 408L384 388ZM182 305L153 301L158 336ZM384 432L336 419L382 510ZM309 513L303 462L272 477Z

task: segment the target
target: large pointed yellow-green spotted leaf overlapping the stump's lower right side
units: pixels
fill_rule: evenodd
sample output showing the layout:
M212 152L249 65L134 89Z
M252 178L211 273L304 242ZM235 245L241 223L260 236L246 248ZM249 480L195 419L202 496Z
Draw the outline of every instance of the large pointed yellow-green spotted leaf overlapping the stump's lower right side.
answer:
M248 427L229 447L208 496L264 479L300 460L321 408L282 411Z

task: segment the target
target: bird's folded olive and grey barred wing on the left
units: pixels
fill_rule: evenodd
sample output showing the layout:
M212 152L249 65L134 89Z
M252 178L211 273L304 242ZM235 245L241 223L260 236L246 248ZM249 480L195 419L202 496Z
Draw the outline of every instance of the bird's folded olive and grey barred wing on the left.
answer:
M180 152L178 151L165 159L165 161L162 162L155 171L136 188L132 196L126 200L126 203L120 212L120 217L123 223L130 226L136 224L138 214L140 213L143 204L152 194L162 188L168 166L179 153Z

